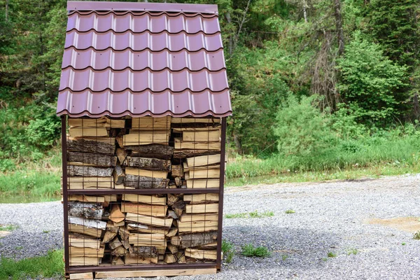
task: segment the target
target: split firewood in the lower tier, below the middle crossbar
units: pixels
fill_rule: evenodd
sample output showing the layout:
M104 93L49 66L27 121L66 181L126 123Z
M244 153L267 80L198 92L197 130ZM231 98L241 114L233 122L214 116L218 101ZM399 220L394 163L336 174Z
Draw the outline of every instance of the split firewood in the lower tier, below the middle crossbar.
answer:
M216 260L218 194L78 195L68 207L70 265Z

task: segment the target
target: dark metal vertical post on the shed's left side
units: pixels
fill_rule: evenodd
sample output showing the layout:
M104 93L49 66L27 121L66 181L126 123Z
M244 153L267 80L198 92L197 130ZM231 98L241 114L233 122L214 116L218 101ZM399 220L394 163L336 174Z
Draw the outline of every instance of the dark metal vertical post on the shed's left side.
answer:
M62 119L62 167L63 167L63 218L64 218L64 272L69 273L69 216L67 203L67 135L66 135L66 116Z

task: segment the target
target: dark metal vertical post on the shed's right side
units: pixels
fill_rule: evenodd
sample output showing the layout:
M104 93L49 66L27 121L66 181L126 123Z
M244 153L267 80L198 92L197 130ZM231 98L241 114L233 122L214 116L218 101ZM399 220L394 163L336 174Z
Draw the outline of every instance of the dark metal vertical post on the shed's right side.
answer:
M225 187L225 151L226 151L226 118L222 118L222 139L221 139L221 174L219 183L219 205L218 205L218 226L217 226L217 259L216 267L222 267L222 225L223 225L223 188Z

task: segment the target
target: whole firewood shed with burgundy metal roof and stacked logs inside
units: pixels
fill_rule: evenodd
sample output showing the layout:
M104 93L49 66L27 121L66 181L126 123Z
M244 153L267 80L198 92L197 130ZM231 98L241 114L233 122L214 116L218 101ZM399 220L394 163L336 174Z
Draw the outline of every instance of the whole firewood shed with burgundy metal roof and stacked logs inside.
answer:
M57 102L66 276L216 273L232 114L217 6L67 9Z

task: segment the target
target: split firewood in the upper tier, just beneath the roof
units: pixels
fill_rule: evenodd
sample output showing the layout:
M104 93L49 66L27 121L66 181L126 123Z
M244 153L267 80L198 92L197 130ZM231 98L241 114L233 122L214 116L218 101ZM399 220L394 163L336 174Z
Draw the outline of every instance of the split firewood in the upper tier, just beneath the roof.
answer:
M211 118L69 118L68 188L218 188L221 123Z

